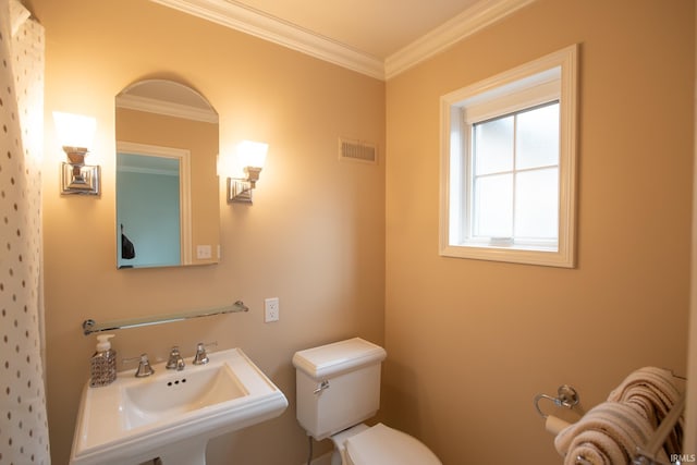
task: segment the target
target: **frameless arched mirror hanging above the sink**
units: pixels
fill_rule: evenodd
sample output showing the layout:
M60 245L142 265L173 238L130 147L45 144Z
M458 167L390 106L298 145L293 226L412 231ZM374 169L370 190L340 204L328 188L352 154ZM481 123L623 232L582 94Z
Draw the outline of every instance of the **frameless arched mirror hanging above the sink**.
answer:
M166 79L132 84L115 107L118 267L218 262L218 113Z

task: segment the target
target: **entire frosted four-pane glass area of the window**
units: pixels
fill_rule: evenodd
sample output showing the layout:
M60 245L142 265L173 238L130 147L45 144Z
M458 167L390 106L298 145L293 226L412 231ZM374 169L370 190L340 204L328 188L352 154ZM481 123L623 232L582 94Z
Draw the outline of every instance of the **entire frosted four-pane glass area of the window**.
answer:
M476 123L473 132L472 236L557 241L559 103Z

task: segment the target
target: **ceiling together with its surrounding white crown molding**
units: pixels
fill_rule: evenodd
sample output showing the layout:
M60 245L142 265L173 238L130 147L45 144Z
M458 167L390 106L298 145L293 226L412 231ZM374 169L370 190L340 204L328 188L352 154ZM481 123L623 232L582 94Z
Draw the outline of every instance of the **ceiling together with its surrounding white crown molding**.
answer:
M535 0L151 0L387 79Z

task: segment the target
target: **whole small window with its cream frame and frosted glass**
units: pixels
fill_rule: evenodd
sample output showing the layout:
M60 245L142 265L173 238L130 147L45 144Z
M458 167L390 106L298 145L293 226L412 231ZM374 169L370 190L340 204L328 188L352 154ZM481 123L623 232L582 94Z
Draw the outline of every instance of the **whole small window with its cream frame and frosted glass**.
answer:
M441 255L573 267L576 47L441 110Z

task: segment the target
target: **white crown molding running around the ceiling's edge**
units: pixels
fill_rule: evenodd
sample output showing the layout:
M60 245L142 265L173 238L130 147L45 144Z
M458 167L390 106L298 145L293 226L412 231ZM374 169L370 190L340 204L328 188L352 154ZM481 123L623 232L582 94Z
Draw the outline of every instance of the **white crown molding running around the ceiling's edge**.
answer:
M481 0L384 61L234 0L150 0L386 81L536 0Z

